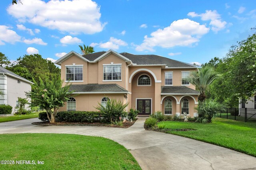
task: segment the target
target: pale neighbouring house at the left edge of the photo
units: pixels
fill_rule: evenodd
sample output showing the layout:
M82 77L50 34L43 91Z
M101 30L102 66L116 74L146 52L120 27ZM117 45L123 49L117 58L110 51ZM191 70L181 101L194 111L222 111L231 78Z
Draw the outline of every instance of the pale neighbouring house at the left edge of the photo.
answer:
M31 91L29 80L0 66L0 90L4 95L0 95L0 104L12 106L12 113L18 106L18 97L26 98L25 92ZM0 113L1 114L1 113Z

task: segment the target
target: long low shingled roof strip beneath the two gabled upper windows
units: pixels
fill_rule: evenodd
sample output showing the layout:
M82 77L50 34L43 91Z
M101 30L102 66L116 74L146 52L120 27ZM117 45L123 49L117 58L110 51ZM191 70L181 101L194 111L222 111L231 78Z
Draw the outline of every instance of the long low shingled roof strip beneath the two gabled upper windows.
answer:
M72 84L69 91L74 91L73 94L129 93L117 84Z

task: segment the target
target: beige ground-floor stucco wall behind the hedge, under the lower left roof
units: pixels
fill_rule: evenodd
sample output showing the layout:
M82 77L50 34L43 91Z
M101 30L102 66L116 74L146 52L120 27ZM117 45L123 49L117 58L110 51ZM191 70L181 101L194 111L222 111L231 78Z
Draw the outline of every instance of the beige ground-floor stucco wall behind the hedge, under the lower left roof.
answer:
M110 99L121 100L124 102L124 94L79 94L75 96L76 99L76 111L97 111L94 107L101 102L102 98L108 97ZM64 107L60 107L59 111L67 111L67 103Z

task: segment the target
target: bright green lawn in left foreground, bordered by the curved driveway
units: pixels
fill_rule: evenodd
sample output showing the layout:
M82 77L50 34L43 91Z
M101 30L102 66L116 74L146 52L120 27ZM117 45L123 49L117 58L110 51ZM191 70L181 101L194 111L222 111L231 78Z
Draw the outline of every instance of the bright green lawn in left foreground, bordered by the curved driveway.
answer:
M118 143L70 134L0 135L1 160L35 160L44 164L1 165L4 170L141 169L132 154Z

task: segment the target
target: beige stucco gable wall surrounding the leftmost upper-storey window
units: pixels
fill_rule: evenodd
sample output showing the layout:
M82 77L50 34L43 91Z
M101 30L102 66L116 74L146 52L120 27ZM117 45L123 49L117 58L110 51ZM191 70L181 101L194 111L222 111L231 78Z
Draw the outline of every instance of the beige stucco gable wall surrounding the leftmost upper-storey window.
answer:
M72 82L72 84L87 84L88 83L88 74L87 74L87 62L80 59L79 57L73 55L69 57L68 59L62 61L61 63L61 72L60 77L62 80L66 80L66 66L65 65L83 65L83 81L84 82Z

